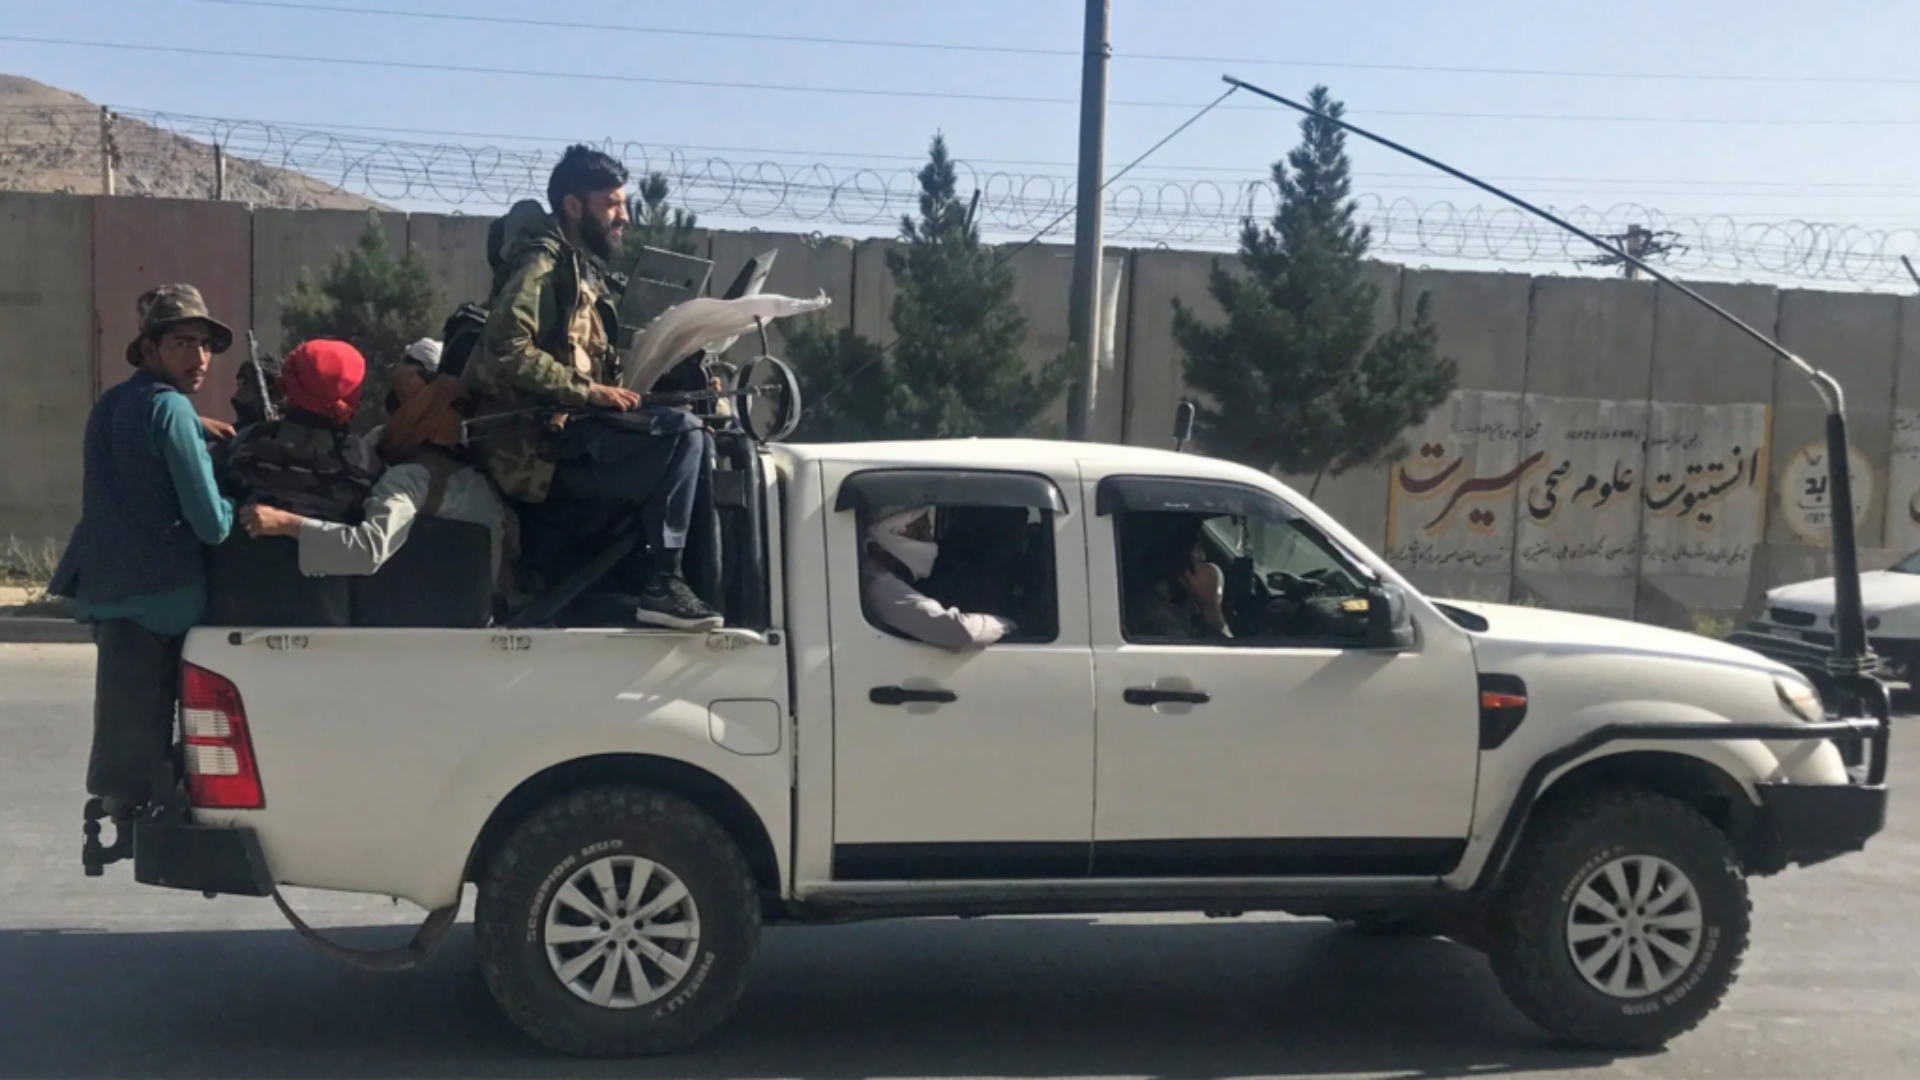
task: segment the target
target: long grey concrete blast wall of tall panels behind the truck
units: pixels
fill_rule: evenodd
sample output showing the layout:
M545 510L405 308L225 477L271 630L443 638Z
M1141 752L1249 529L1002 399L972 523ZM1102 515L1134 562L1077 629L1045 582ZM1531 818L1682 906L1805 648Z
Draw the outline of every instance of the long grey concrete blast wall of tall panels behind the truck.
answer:
M246 327L278 350L280 304L301 269L319 271L365 221L0 194L0 371L13 388L0 404L0 536L71 530L86 409L131 371L125 348L144 288L194 282L240 331L196 400L225 417ZM426 259L447 311L486 300L490 217L378 221L396 250ZM891 240L701 231L695 244L714 263L710 294L774 250L768 292L826 292L828 325L893 340ZM1208 294L1215 263L1238 273L1231 254L1108 252L1098 438L1169 446L1187 394L1173 302L1219 319ZM1037 244L1010 267L1027 359L1046 363L1068 346L1071 250ZM1384 263L1369 273L1380 288L1375 325L1411 327L1425 302L1459 388L1405 432L1405 457L1325 477L1315 502L1423 590L1684 625L1826 573L1824 413L1805 380L1751 340L1651 282ZM1920 300L1701 288L1845 384L1862 561L1880 567L1920 548ZM783 348L778 325L772 344ZM732 359L753 350L758 342L743 340ZM1284 480L1313 486L1313 477Z

